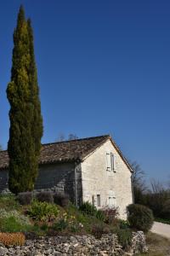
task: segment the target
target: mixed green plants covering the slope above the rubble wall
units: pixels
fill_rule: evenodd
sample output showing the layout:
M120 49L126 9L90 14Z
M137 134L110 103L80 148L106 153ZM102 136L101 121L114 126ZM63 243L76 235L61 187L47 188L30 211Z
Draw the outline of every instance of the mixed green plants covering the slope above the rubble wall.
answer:
M22 204L20 204L19 196ZM103 234L115 233L123 247L129 244L130 235L127 235L131 232L129 225L116 218L116 215L114 215L114 221L107 221L104 211L106 208L97 210L89 203L84 203L82 209L79 210L71 202L67 207L60 207L55 203L37 201L36 198L33 198L29 204L29 200L30 194L27 193L0 197L1 231L7 234L8 232L16 234L24 232L29 239L37 236L72 233L93 234L99 238ZM113 210L112 213L114 212Z

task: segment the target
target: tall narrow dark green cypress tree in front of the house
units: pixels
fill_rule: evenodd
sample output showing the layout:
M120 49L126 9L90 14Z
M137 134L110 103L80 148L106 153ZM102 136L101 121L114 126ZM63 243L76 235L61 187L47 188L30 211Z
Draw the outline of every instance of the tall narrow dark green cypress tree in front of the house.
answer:
M31 67L31 51L33 49L31 48L30 26L28 23L25 18L24 9L21 6L17 26L14 30L11 82L8 84L7 88L8 102L10 103L8 186L14 194L34 188L38 170L37 158L42 137L41 130L37 140L37 146L33 122L36 115L35 98L38 98L38 87L37 97L35 97L36 86L32 86L34 90L31 90L31 84L34 84L32 83L33 68ZM37 104L39 104L38 106L40 108L40 102ZM41 109L39 113L41 115ZM42 118L40 119L42 125Z

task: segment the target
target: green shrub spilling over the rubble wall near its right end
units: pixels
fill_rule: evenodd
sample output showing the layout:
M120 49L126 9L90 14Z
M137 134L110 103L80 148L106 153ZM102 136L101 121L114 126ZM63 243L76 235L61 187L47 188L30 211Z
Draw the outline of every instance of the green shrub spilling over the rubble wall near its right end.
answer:
M124 250L127 250L131 246L132 242L132 231L131 230L117 230L116 235L118 236L118 241L122 245Z

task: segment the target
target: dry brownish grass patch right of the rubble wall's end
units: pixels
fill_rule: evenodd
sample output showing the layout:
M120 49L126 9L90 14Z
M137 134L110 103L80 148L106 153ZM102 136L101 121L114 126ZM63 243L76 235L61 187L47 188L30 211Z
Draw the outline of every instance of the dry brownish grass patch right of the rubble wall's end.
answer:
M154 233L149 233L146 236L146 243L149 247L148 253L138 254L138 256L169 256L170 255L170 240L156 235Z

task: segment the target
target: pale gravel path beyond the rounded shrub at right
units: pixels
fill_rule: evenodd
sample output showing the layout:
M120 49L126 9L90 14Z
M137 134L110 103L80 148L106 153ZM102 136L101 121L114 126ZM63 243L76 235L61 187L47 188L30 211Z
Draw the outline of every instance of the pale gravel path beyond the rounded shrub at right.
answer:
M166 236L167 238L170 238L170 225L169 224L163 224L160 222L154 222L153 227L150 230L153 233L156 233L161 236Z

